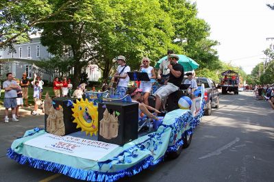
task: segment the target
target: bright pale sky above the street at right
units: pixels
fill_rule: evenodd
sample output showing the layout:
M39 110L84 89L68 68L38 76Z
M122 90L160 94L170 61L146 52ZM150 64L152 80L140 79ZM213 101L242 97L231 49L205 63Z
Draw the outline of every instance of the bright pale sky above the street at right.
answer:
M266 0L191 0L197 2L198 16L210 25L210 39L217 40L219 58L242 66L246 73L265 57L263 50L274 38L274 10ZM273 41L274 43L274 41Z

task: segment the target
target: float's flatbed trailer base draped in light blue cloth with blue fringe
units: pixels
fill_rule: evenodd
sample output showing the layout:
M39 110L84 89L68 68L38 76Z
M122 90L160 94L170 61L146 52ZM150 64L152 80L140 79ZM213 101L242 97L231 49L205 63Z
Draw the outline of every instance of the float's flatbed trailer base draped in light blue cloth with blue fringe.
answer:
M158 129L139 133L123 146L100 142L96 135L81 131L58 136L35 128L14 140L7 156L19 164L85 181L131 177L165 157L178 157L190 145L205 105L201 97L192 103L191 109L168 112Z

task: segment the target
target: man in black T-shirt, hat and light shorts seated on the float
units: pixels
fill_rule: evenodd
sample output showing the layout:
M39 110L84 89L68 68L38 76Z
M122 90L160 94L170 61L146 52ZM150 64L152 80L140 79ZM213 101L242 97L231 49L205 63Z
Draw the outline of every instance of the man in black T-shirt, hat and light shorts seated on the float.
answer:
M179 57L175 54L170 54L169 65L167 66L170 70L169 80L166 85L160 87L154 93L156 96L155 109L159 110L164 99L169 96L169 94L179 90L179 86L182 84L184 78L184 67L178 64Z

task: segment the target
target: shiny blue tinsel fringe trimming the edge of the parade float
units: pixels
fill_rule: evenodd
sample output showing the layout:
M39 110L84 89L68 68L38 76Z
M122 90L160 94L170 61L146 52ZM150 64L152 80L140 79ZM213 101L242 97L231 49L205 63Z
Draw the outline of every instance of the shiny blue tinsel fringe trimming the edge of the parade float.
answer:
M58 164L52 161L27 157L17 153L17 151L14 151L15 149L13 150L12 148L8 149L7 156L10 157L10 159L14 159L19 164L28 164L32 168L61 173L74 179L81 179L86 181L117 181L123 177L132 177L142 170L145 170L151 166L155 166L164 160L166 153L177 151L177 148L184 144L184 140L182 140L182 138L185 135L192 134L195 127L199 125L201 117L203 116L204 105L205 102L203 102L202 109L197 116L193 117L190 112L184 112L182 116L179 116L174 120L173 124L160 125L158 131L147 135L147 138L142 142L134 144L133 146L125 149L110 159L97 162L99 170L84 170L82 168L73 168L72 166ZM35 135L40 131L41 129L36 128L32 132L25 133L24 137ZM166 143L163 143L163 139L166 137L166 133L169 132L169 140ZM164 149L163 153L161 152L162 148L166 148ZM150 153L150 155L142 158L140 156L142 153ZM108 166L108 168L112 170L114 166L117 167L126 164L132 164L132 161L136 159L140 160L135 163L134 166L125 168L124 170L118 170L114 172L101 170L102 166Z

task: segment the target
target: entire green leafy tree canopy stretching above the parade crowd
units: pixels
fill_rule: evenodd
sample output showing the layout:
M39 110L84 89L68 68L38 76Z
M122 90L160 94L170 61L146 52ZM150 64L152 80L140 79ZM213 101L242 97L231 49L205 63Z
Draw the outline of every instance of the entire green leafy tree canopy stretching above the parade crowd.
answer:
M1 7L0 48L27 38L29 31L42 29L40 40L50 53L58 57L71 55L68 66L74 68L76 83L82 68L89 63L98 64L106 79L114 66L112 60L118 55L125 55L132 70L139 68L144 56L151 59L153 66L168 49L191 57L210 75L221 65L214 49L219 43L208 39L210 27L197 17L196 3L190 1L16 2L5 1Z

